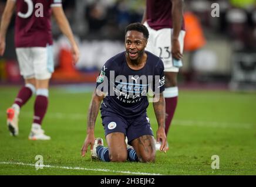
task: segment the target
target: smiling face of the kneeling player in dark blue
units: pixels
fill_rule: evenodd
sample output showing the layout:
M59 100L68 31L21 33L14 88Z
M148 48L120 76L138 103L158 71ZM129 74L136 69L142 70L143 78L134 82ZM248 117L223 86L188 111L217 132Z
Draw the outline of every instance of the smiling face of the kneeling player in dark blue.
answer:
M146 44L147 39L143 33L136 30L129 30L126 33L125 48L130 60L137 60L139 57L142 57Z

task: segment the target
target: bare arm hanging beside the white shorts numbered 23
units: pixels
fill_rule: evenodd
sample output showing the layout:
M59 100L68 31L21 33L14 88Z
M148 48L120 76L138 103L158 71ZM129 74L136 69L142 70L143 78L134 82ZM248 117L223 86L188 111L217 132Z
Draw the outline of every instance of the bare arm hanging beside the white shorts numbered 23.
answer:
M171 16L173 19L173 37L172 37L172 47L171 53L174 58L180 59L183 57L180 51L180 42L178 41L178 36L181 31L182 21L183 21L183 0L170 0L173 4L171 9Z

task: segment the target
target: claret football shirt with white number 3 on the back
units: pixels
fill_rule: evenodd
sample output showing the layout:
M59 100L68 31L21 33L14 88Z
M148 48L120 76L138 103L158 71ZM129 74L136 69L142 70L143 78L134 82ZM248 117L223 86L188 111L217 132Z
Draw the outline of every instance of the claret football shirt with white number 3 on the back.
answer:
M62 0L12 0L16 2L15 47L52 45L50 16Z

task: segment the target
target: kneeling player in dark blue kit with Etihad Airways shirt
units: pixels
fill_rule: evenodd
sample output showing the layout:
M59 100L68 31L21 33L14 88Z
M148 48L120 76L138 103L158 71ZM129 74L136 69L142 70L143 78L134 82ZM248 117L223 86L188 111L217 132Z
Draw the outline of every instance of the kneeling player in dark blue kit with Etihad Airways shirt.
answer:
M149 32L141 23L128 25L125 36L126 51L110 58L103 66L90 103L82 156L90 146L92 158L105 162L154 162L154 137L146 113L149 106L149 88L154 92L154 99L159 99L153 102L159 124L157 140L163 141L160 150L166 152L165 104L162 93L164 65L159 57L144 51L148 37ZM108 148L103 147L102 138L95 140L94 136L99 108ZM132 147L126 146L126 137L127 143Z

